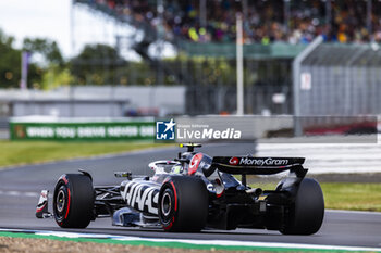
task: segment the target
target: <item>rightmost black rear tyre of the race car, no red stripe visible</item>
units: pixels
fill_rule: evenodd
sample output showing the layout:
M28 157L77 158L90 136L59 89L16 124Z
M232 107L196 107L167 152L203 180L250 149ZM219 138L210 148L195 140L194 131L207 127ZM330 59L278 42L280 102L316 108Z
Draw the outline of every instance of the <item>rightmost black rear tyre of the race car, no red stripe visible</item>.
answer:
M285 213L284 235L312 235L324 218L324 198L319 182L304 178L296 189L295 201Z

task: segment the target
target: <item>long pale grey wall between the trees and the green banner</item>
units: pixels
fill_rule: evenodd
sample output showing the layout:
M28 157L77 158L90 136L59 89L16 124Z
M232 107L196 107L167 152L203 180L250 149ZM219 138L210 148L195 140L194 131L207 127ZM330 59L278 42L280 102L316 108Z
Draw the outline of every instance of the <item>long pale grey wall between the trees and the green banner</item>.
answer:
M8 115L3 116L121 117L131 112L164 116L184 113L185 87L86 86L52 91L0 90L0 102L9 106Z

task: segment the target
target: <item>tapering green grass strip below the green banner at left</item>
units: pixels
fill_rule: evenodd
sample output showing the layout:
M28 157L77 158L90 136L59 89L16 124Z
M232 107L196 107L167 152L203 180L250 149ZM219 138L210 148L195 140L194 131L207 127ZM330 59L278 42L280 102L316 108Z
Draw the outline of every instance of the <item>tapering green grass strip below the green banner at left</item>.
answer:
M163 147L140 142L0 141L0 167Z

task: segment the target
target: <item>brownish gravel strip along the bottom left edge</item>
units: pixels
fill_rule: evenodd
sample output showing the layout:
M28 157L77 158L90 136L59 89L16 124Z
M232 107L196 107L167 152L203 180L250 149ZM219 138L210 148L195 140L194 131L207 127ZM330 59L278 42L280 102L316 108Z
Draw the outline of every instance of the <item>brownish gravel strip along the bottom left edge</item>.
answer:
M176 249L176 248L159 248L159 246L144 246L144 245L123 245L123 244L108 244L95 242L73 242L59 241L49 239L32 239L32 238L11 238L0 237L0 252L25 252L25 253L234 253L237 251L221 251L221 250L193 250L193 249ZM244 253L248 251L239 251Z

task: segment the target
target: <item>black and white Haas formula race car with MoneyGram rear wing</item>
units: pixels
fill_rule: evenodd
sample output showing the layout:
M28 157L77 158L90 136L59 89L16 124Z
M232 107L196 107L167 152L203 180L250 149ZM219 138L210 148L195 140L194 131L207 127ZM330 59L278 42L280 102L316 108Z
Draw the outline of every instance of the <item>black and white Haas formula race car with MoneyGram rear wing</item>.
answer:
M111 217L114 226L199 231L204 228L266 228L285 235L316 233L324 216L319 184L305 178L300 157L214 156L195 152L200 144L184 144L173 161L148 166L152 177L115 173L119 186L93 186L90 174L62 175L48 212L48 191L37 205L39 218L53 216L62 228L86 228L91 220ZM246 185L246 175L288 170L275 190ZM242 175L237 180L233 175Z

